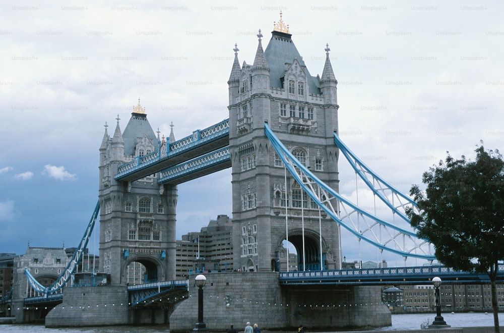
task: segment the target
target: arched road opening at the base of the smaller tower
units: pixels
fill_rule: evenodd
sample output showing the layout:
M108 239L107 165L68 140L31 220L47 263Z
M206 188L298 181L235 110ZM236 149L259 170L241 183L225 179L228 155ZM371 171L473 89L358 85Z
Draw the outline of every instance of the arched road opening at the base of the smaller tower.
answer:
M139 263L140 265L136 266L134 263ZM132 264L134 264L133 267ZM134 271L132 271L132 269L134 269ZM135 256L134 258L129 258L124 262L121 271L124 284L144 284L164 281L165 279L162 263L150 256Z

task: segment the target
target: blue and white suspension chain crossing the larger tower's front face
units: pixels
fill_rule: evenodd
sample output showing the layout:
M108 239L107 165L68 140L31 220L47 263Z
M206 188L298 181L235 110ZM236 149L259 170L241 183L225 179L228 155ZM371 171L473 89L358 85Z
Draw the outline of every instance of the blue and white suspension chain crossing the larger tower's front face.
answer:
M301 189L313 200L313 202L336 221L336 223L355 235L359 240L362 239L381 250L386 250L404 257L427 260L435 259L435 256L430 254L430 243L426 240L417 238L415 232L396 226L389 221L367 212L345 199L333 188L314 176L313 173L299 162L282 142L280 142L267 123L265 123L265 133L273 148L282 159L286 169L299 184ZM352 218L353 215L357 217L357 224ZM348 223L346 223L346 221L348 221ZM360 221L365 224L366 228L364 230L360 228ZM373 227L377 225L382 226L384 231L388 234L389 238L387 241L382 242L380 239L381 237L376 235ZM398 239L400 238L403 239L403 244L399 244ZM408 243L407 246L406 243ZM427 247L427 249L425 249L425 247ZM416 253L417 251L421 253Z

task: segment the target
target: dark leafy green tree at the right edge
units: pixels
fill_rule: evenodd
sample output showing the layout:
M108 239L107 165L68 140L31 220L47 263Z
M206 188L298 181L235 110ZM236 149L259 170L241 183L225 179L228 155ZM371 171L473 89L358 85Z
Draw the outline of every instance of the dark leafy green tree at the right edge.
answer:
M464 155L423 173L421 191L410 194L417 211L407 210L417 236L431 242L437 260L464 271L487 273L491 283L495 332L499 333L497 289L498 262L504 259L504 160L498 150L475 150L476 159Z

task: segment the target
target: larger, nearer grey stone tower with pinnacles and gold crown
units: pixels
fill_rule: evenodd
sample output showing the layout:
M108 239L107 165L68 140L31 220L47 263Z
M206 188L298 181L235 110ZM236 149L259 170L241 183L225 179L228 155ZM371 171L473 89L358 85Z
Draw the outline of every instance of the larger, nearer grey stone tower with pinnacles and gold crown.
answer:
M288 239L297 250L289 270L321 269L321 261L324 269L340 268L337 224L323 215L320 238L317 205L292 177L285 180L283 163L264 132L267 122L298 160L338 191L337 81L329 46L322 76L313 77L281 17L265 50L261 30L257 36L252 65L240 66L235 45L228 81L233 267L286 270L282 242Z

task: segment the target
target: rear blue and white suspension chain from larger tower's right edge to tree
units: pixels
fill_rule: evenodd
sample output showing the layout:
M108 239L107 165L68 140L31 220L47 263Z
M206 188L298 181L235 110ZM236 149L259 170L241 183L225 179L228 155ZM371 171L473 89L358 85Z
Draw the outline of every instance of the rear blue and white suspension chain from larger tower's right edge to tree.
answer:
M402 219L410 223L409 218L406 216L404 211L400 211L397 208L405 208L406 206L416 207L416 202L409 196L401 193L394 186L390 185L383 178L376 175L371 169L367 167L348 147L341 141L336 133L334 133L334 142L340 148L340 151L346 157L351 167L357 175L364 181L364 183L373 191L373 193L380 198L392 211L398 214ZM371 181L368 179L367 175L370 176ZM378 188L376 188L377 186ZM398 206L395 206L393 202L387 197L387 191L394 196L394 198L399 202ZM403 202L404 201L404 202Z

